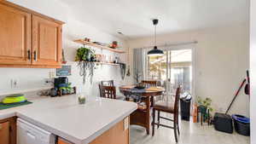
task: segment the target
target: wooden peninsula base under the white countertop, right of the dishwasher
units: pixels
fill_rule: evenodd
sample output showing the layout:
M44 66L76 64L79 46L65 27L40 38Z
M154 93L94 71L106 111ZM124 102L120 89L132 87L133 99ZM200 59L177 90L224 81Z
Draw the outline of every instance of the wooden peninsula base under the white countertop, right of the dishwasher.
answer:
M59 138L58 144L72 144ZM127 117L98 136L90 144L130 144L130 118Z

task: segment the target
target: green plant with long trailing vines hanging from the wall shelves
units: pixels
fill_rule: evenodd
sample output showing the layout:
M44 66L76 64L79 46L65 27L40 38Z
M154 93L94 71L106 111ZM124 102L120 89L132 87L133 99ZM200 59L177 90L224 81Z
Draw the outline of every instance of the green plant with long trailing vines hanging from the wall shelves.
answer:
M83 84L86 82L86 78L90 77L90 84L92 84L92 78L94 70L96 69L96 54L95 50L90 48L81 47L77 50L76 61L79 61L79 74L83 77Z

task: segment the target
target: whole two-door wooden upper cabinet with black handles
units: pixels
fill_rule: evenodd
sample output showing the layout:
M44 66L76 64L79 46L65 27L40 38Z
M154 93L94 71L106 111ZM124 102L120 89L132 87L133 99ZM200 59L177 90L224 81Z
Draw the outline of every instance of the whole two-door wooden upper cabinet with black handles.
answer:
M64 22L0 1L0 66L61 67Z

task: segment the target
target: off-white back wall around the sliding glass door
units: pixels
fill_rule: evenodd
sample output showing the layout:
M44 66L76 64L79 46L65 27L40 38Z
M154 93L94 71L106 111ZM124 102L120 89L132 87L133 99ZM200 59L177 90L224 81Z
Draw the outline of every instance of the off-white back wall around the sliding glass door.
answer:
M248 24L177 32L157 37L158 44L198 41L195 48L195 95L211 97L217 111L225 111L249 67ZM131 48L154 45L152 37L129 41ZM132 55L131 55L132 56ZM243 89L230 113L249 115Z

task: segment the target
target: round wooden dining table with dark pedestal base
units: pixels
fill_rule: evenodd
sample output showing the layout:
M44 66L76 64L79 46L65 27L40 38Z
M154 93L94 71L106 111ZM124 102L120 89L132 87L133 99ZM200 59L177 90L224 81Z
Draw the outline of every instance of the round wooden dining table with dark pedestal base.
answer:
M125 85L119 87L120 93L125 95L125 101L131 101L131 97L136 97L134 102L138 103L138 108L131 113L130 124L144 127L149 135L151 108L154 107L154 98L164 94L163 87L137 88L136 85ZM140 104L143 103L143 107Z

